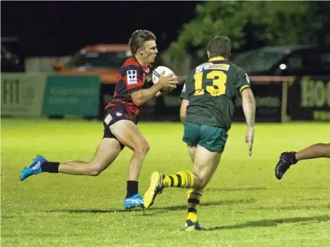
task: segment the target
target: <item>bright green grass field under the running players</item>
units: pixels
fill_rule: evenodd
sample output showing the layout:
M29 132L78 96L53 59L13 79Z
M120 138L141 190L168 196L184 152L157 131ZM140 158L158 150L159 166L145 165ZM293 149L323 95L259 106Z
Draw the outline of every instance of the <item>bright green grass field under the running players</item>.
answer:
M139 180L191 163L181 124L141 123L151 145ZM257 124L252 157L245 125L233 124L218 170L202 197L204 232L183 230L186 191L168 189L154 207L124 212L124 150L98 177L41 174L19 182L37 153L89 160L102 137L97 121L1 120L1 246L330 246L330 160L305 160L281 181L283 150L329 142L329 124Z

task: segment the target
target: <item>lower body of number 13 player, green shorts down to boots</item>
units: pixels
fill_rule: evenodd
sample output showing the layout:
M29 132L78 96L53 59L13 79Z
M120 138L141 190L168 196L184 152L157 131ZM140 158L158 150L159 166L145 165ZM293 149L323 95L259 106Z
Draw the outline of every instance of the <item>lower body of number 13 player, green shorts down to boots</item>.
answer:
M197 207L203 195L203 188L208 185L220 163L227 138L228 134L222 128L186 123L183 141L188 144L188 151L193 160L193 172L181 171L169 176L154 172L151 175L151 184L147 191L150 194L154 192L151 204L159 190L164 187L191 189L188 190L188 216L185 227L188 231L204 229L198 224ZM144 206L146 207L145 197Z

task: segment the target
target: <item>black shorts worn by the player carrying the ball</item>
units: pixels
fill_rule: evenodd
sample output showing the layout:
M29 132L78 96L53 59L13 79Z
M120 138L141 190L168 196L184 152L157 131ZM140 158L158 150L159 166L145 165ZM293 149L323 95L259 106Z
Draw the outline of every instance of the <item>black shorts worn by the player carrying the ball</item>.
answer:
M103 126L105 126L103 138L115 138L116 140L118 140L116 136L114 136L114 134L110 131L110 126L120 120L130 120L134 124L137 124L139 121L139 117L135 114L131 114L127 107L120 102L113 102L112 105L113 106L110 106L105 111L105 116L103 116L102 122ZM124 149L124 147L124 144L120 143L120 148Z

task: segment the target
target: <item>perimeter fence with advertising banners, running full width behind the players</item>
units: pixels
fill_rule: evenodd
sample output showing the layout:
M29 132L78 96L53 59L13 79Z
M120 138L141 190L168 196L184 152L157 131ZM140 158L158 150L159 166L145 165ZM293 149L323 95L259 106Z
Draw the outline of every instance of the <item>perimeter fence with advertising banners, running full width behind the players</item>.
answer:
M186 77L179 77L184 81ZM256 121L330 121L330 76L250 77L256 99ZM1 74L1 116L101 117L114 84L98 76L46 73ZM171 94L149 101L142 119L179 121L183 84ZM245 121L242 100L233 121Z

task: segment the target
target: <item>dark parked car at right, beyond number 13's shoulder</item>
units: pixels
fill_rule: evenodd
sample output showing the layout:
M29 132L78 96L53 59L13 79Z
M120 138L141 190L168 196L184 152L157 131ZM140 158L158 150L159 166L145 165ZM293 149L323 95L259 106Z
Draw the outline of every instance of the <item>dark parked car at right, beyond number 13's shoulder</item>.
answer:
M329 75L330 47L265 47L240 53L233 62L248 75Z

